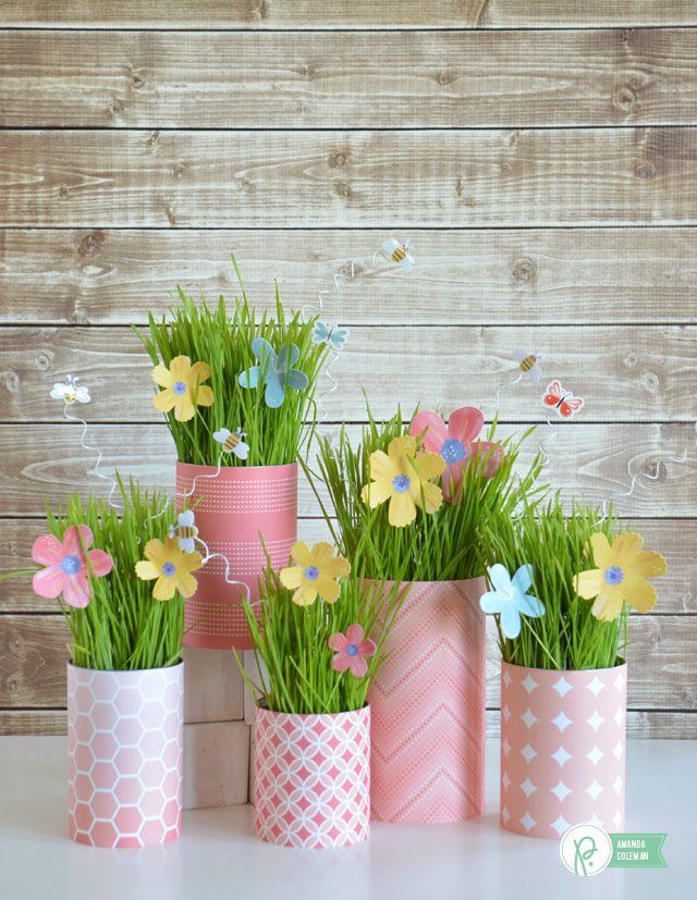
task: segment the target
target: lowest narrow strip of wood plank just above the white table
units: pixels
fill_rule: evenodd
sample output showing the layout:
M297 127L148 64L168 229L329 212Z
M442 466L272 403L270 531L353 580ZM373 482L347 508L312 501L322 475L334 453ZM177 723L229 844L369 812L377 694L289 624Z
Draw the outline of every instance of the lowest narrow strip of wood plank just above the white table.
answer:
M500 713L487 710L487 736L498 737ZM64 735L66 715L62 710L0 710L0 735ZM697 713L631 710L627 737L638 739L697 739Z

